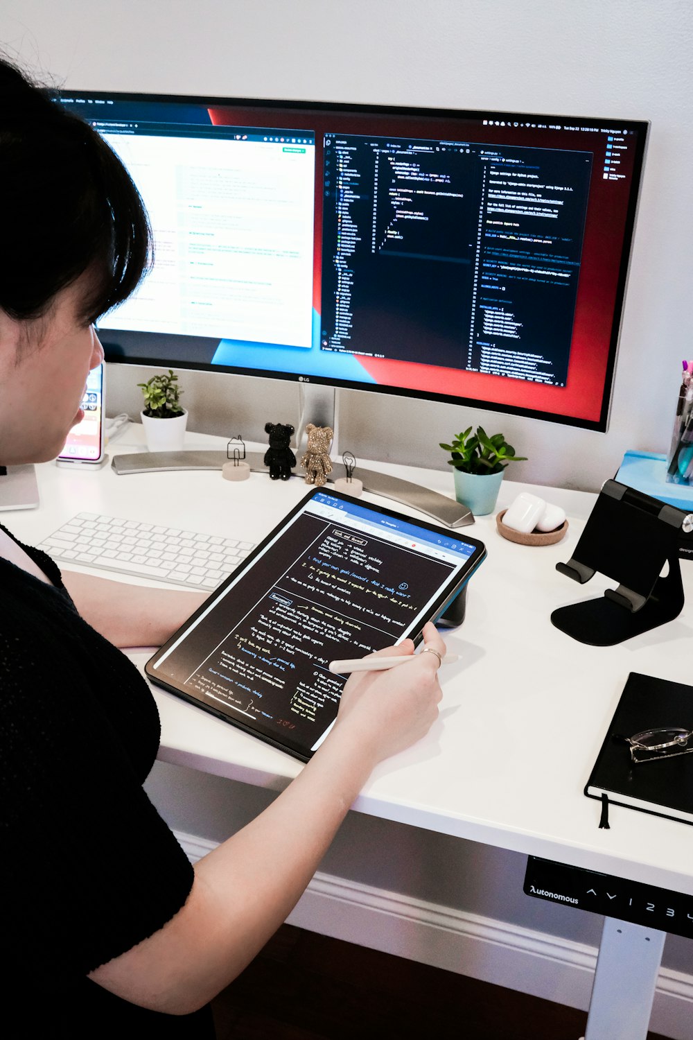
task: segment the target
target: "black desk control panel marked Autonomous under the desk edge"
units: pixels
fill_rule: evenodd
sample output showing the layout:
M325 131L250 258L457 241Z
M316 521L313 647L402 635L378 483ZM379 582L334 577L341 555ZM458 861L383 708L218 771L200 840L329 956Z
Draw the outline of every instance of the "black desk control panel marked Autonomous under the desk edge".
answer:
M534 899L693 939L693 895L530 856L524 891Z

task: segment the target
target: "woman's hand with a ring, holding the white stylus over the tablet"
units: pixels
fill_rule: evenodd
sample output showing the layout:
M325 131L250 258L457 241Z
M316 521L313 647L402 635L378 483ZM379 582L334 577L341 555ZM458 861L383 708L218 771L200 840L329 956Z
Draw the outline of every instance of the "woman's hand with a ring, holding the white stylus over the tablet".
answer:
M424 646L445 655L446 645L433 624L424 627L423 635ZM374 765L420 740L438 716L443 693L434 653L415 655L414 643L405 640L374 656L407 653L410 661L388 671L353 673L342 693L335 730L350 729L362 748L370 747Z

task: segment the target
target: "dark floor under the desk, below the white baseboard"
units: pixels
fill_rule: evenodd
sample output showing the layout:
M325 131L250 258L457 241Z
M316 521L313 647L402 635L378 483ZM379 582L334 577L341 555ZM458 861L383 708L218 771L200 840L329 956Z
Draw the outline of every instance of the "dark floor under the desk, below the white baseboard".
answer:
M218 1040L579 1040L587 1021L572 1008L290 925L217 997L214 1017Z

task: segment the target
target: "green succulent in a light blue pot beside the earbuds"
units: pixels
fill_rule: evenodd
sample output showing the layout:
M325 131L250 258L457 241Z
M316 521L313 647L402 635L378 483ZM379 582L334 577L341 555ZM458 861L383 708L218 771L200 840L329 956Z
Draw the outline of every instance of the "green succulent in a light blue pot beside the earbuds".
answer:
M476 516L485 516L496 509L498 493L505 468L509 462L525 462L525 456L516 456L503 434L489 437L482 426L476 434L469 426L457 434L452 444L441 444L451 458L448 465L454 467L455 498L469 505Z

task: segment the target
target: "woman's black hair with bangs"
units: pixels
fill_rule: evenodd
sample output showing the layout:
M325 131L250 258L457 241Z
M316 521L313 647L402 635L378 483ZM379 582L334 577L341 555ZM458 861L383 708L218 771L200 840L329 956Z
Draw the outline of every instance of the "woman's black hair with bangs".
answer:
M0 56L0 308L29 320L89 271L85 324L151 263L137 188L104 139Z

